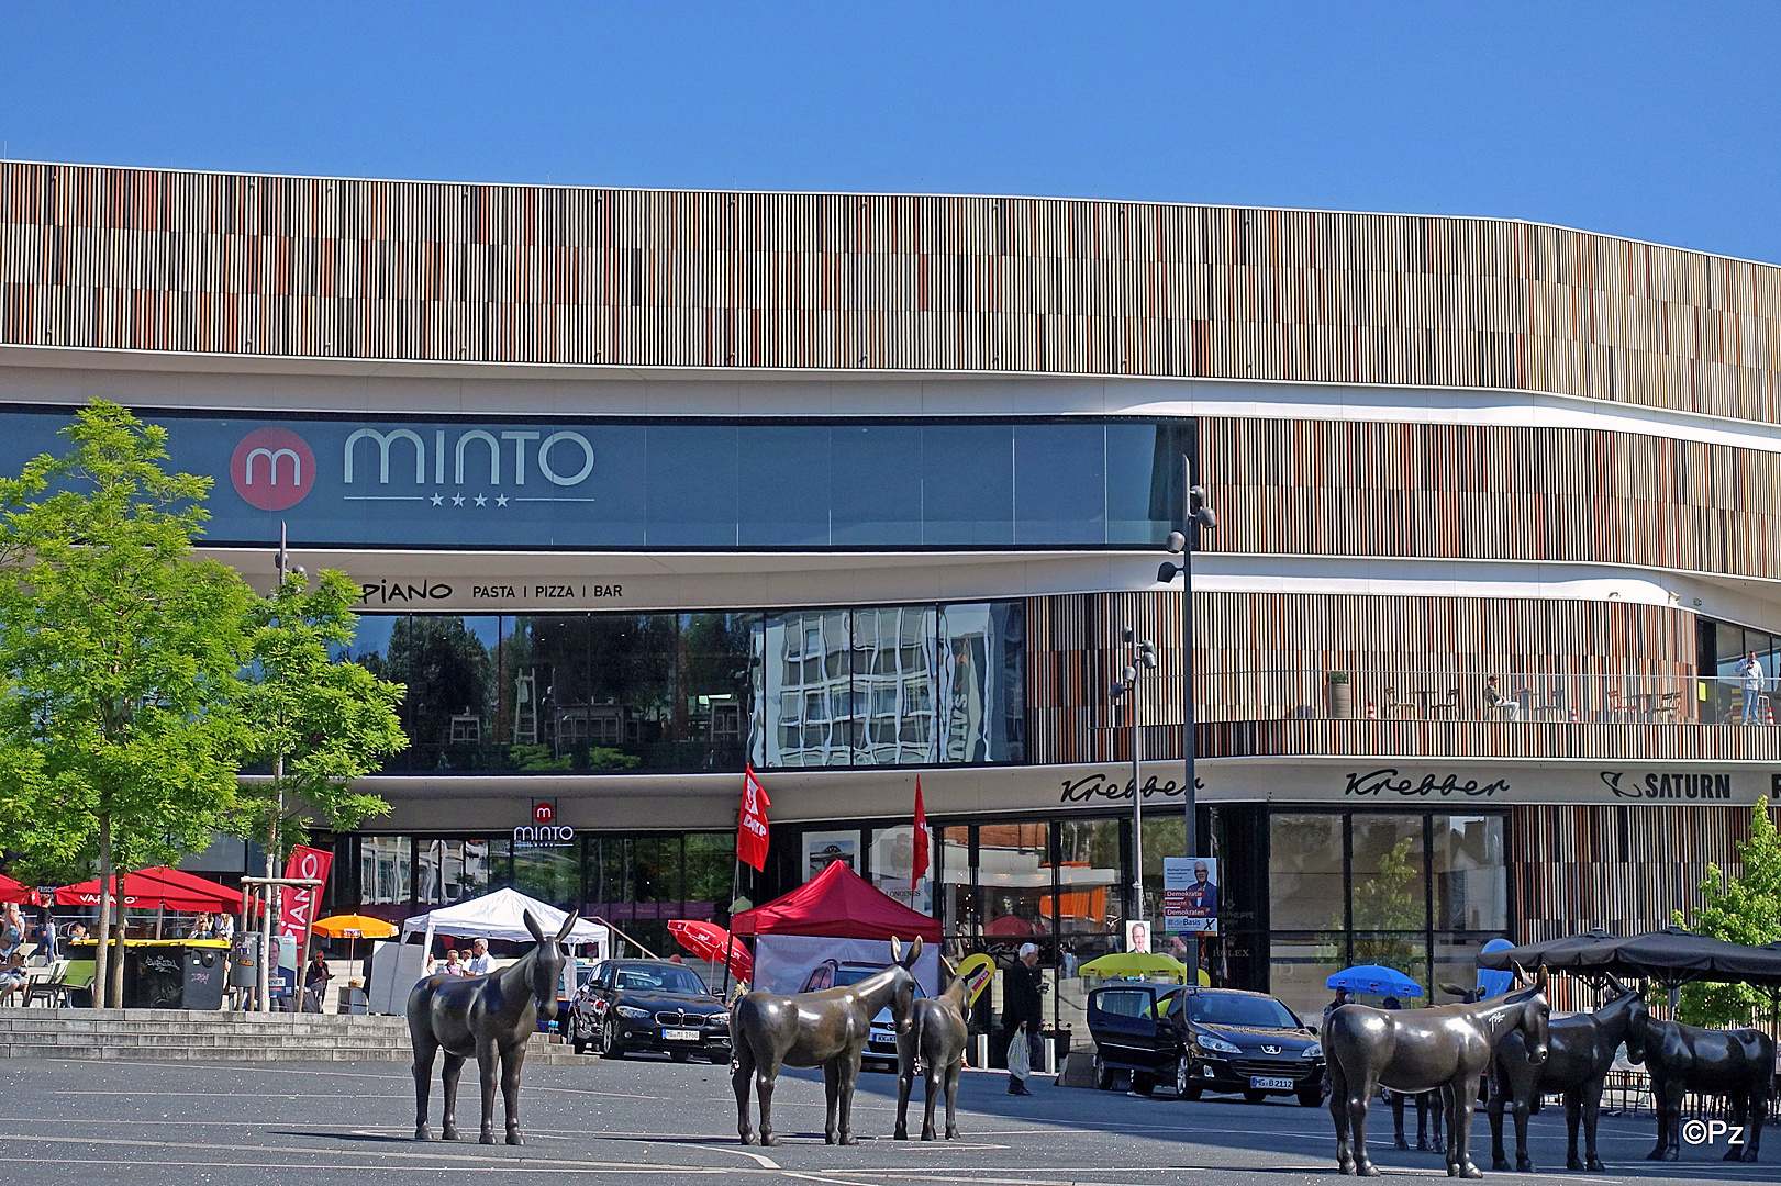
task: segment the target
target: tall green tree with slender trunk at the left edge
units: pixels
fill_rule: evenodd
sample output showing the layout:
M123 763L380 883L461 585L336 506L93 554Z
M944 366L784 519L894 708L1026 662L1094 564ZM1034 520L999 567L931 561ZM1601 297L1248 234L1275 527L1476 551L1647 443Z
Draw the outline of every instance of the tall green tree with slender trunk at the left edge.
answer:
M253 593L194 556L210 479L162 468L166 429L94 402L64 436L0 479L0 832L98 860L105 938L112 873L205 848L235 807Z

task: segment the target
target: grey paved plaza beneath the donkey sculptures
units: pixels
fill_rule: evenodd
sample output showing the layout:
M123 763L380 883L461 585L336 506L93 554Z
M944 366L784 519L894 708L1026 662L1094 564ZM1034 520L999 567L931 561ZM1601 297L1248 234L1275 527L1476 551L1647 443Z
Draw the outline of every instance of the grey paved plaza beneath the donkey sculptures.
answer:
M823 1088L816 1072L780 1081L775 1113L785 1143L736 1143L736 1113L721 1067L593 1061L525 1072L524 1149L474 1143L470 1076L459 1125L472 1143L417 1145L411 1083L394 1063L100 1063L11 1060L0 1065L0 1186L185 1182L413 1182L474 1174L476 1181L597 1175L602 1181L680 1181L728 1175L748 1182L1300 1182L1336 1179L1329 1113L1291 1102L1181 1102L1158 1093L1053 1088L1035 1079L1013 1099L1004 1079L967 1074L958 1141L889 1140L896 1083L864 1074L855 1108L857 1149L823 1145ZM917 1090L919 1092L919 1090ZM915 1111L912 1108L912 1111ZM1375 1113L1389 1143L1389 1111ZM438 1097L435 1090L435 1125ZM1489 1127L1478 1117L1484 1154ZM919 1122L917 1122L919 1124ZM1649 1117L1605 1118L1608 1174L1541 1174L1587 1182L1769 1182L1769 1165L1726 1165L1719 1150L1687 1149L1681 1165L1642 1161ZM1444 1177L1435 1154L1393 1152L1373 1141L1387 1177ZM1564 1165L1564 1117L1533 1120L1533 1158ZM1489 1165L1487 1161L1484 1165ZM1533 1175L1489 1174L1530 1182Z

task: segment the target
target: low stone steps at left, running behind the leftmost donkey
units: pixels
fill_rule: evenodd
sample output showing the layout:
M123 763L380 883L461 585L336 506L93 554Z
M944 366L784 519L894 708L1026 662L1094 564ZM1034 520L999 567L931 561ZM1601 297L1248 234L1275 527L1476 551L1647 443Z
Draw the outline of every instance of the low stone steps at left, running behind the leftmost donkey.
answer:
M0 1008L0 1058L406 1063L413 1052L403 1017ZM525 1061L559 1067L593 1060L536 1033Z

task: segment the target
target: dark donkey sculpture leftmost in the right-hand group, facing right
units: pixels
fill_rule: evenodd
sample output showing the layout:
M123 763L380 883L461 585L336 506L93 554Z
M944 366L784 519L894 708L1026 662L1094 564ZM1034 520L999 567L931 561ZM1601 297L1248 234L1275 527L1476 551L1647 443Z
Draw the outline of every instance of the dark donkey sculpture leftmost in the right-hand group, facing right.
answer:
M1530 988L1498 1001L1403 1011L1345 1004L1330 1013L1323 1026L1323 1058L1336 1122L1336 1166L1343 1174L1378 1174L1366 1156L1366 1108L1380 1086L1407 1095L1441 1090L1448 1175L1484 1177L1471 1161L1478 1081L1507 1033L1519 1031L1528 1058L1544 1060L1548 1013L1544 972Z

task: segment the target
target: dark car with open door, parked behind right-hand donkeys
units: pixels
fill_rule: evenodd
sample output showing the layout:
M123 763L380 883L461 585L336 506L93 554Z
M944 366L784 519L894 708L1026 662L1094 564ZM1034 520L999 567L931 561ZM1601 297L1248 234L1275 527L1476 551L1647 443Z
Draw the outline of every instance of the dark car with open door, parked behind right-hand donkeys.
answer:
M1149 1095L1159 1083L1181 1099L1241 1093L1252 1104L1295 1095L1323 1099L1323 1047L1314 1029L1270 995L1234 988L1102 985L1088 994L1095 1086L1120 1072Z

